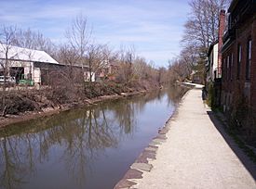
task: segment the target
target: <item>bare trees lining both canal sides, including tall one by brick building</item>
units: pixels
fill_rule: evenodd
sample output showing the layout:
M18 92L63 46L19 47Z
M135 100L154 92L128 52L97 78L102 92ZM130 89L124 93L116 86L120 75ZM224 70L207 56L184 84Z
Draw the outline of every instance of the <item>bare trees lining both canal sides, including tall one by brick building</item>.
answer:
M65 31L65 43L53 44L39 31L17 29L14 26L2 26L0 43L20 47L44 50L58 62L72 68L79 65L89 69L89 81L93 73L104 68L105 61L118 64L116 73L119 82L132 82L151 78L155 83L167 83L189 79L192 70L205 74L205 61L209 45L218 40L218 24L221 9L230 5L230 0L192 0L190 13L184 24L182 50L178 57L168 61L167 68L155 69L144 57L136 55L132 46L120 47L114 51L107 44L96 44L88 19L78 14ZM5 61L1 61L5 68ZM70 73L70 77L71 77Z

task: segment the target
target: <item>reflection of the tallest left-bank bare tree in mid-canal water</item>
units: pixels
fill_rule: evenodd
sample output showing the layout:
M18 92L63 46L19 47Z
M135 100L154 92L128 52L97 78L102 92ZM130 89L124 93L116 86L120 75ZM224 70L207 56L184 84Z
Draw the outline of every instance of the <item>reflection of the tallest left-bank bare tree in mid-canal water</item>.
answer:
M61 158L64 159L69 173L82 184L86 179L86 170L92 161L98 157L99 150L117 145L117 140L109 121L105 116L105 109L101 107L89 108L74 125L67 125L73 131L70 140L66 141L66 148ZM72 131L65 131L71 133ZM60 134L61 135L61 134Z

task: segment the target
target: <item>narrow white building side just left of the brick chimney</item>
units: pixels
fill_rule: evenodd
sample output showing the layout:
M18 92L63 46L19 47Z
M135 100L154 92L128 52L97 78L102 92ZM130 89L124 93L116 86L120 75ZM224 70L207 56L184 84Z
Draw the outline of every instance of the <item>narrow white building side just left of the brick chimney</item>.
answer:
M213 82L218 77L218 41L210 44L208 52L207 82Z

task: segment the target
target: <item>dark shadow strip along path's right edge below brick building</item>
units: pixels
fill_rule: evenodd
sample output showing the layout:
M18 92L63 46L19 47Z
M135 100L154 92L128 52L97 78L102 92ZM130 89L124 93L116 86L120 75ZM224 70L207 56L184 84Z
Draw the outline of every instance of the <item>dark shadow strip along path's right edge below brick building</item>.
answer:
M236 142L233 140L233 138L228 135L227 132L224 131L222 122L218 120L212 111L207 112L209 115L210 120L213 122L216 129L222 134L223 139L226 141L226 143L230 146L230 148L234 151L236 154L236 157L239 158L239 160L243 163L245 168L249 171L250 175L253 177L254 180L256 180L256 165L247 157L247 155L240 149Z

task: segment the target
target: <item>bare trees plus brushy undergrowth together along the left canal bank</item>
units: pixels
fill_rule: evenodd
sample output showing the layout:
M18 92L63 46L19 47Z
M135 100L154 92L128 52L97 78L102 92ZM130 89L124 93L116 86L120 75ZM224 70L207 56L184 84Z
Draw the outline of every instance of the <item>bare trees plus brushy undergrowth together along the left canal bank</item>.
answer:
M155 68L153 63L136 54L134 46L123 45L113 50L107 44L95 43L92 35L88 20L82 14L73 19L65 31L66 40L62 44L54 44L39 31L2 25L0 45L6 57L0 59L0 67L5 78L13 59L8 52L13 46L43 50L66 67L52 70L47 88L41 87L39 92L9 91L5 81L0 92L1 116L66 104L83 104L88 98L150 90L167 83L168 69ZM102 78L101 82L92 82L94 74L106 69L108 64L115 65L115 80ZM84 80L84 70L87 70L88 81Z

